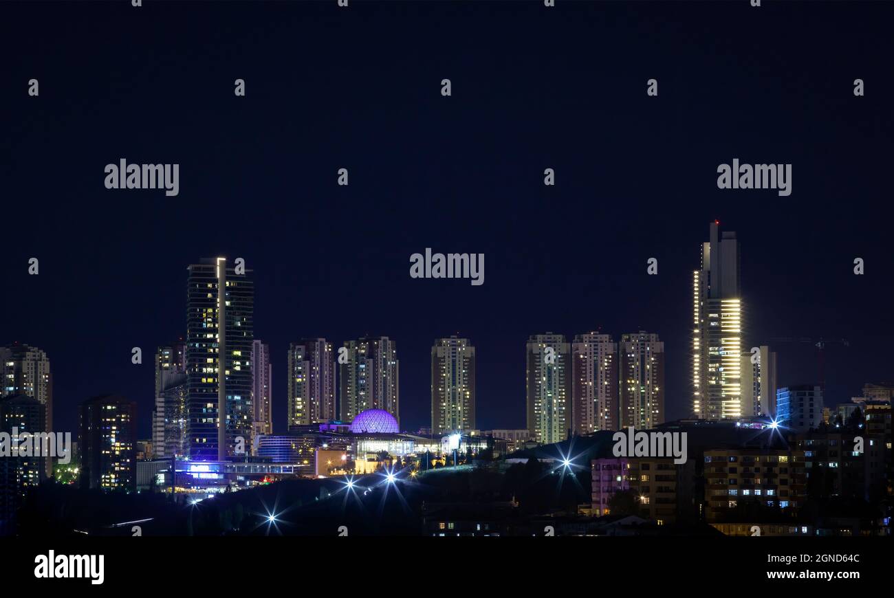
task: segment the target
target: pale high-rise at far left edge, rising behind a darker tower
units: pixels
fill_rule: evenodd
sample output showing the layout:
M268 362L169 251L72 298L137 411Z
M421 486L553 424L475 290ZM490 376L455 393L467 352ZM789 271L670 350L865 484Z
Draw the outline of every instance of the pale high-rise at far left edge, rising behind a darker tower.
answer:
M0 397L24 394L34 397L46 409L44 430L53 430L53 374L43 350L14 342L0 347ZM46 459L46 476L53 475L53 464Z

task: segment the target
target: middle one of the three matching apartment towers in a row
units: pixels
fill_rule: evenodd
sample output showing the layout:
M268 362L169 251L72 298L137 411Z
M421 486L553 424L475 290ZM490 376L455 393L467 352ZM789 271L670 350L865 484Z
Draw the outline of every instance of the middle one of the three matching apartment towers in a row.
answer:
M575 434L617 430L618 345L611 336L578 334L571 343L571 429Z

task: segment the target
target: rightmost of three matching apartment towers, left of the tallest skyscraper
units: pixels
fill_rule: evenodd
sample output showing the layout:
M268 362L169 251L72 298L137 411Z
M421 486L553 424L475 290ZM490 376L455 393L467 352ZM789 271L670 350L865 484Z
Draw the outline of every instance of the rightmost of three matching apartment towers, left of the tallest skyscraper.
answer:
M664 423L664 343L657 334L624 334L620 354L620 427Z

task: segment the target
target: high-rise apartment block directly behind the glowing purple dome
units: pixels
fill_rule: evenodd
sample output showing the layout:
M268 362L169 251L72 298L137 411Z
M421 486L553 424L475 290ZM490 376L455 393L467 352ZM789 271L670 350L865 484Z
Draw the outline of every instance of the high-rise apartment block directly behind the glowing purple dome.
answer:
M398 422L400 364L397 343L387 336L344 341L339 358L339 400L342 420L351 421L366 409L384 409Z

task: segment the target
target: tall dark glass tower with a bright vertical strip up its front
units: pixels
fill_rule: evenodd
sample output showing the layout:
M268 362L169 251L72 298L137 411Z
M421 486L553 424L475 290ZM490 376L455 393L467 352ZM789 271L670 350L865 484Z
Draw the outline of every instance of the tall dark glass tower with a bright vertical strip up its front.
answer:
M244 265L225 257L190 265L186 365L192 460L240 459L237 437L250 446L254 284ZM221 425L218 425L218 419Z

